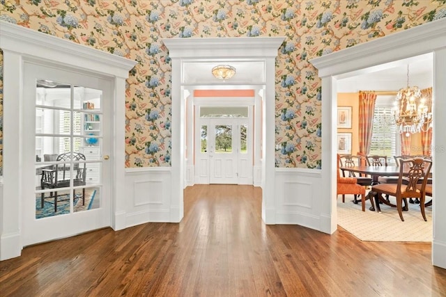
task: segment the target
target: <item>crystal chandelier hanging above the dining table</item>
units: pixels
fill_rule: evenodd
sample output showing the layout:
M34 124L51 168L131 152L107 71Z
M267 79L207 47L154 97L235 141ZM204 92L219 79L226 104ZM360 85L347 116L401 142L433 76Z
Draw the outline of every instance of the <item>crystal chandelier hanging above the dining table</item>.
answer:
M432 113L429 112L429 106L425 105L425 101L417 86L409 86L409 65L407 65L407 87L398 91L392 109L392 116L399 127L399 133L406 133L406 136L409 136L411 133L431 128Z

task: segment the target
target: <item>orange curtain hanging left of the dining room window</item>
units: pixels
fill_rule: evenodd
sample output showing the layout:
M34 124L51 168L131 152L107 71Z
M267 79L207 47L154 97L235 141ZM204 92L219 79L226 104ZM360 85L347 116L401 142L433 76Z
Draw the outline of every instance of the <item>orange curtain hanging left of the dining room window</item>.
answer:
M376 93L360 91L359 141L360 154L368 155L371 145L371 133L374 123Z

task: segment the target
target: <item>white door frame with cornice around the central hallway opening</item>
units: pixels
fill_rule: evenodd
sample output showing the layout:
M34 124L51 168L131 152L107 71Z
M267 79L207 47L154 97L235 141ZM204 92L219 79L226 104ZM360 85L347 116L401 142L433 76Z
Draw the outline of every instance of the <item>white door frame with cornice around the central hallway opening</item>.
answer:
M262 219L275 224L275 57L284 37L271 38L171 38L162 39L172 61L171 109L171 222L184 215L183 188L185 175L185 73L188 60L220 58L222 61L245 59L263 61L262 137ZM249 48L249 51L246 49Z

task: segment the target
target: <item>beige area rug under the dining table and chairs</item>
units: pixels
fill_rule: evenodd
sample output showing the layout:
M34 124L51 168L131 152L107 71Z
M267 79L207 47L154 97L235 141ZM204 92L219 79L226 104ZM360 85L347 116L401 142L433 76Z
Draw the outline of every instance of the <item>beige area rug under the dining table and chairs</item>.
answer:
M366 202L366 211L361 204L354 204L353 195L346 195L342 203L341 195L337 200L338 225L362 241L413 241L432 242L432 207L426 207L427 222L424 221L420 204L410 204L409 210L403 211L402 221L395 207L380 204L381 213L370 211L370 202ZM392 197L390 198L392 201Z

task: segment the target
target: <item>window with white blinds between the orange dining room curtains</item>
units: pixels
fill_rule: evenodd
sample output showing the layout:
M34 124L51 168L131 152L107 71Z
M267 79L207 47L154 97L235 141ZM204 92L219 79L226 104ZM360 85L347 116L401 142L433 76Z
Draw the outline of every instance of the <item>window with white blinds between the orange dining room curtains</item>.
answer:
M397 127L392 122L390 106L375 106L369 154L392 159L397 151Z

